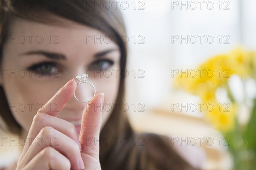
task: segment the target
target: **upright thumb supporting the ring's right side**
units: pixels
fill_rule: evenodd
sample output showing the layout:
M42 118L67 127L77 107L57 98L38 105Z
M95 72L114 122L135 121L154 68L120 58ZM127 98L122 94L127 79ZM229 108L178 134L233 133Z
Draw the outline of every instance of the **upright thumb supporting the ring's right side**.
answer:
M99 131L102 124L102 105L104 93L96 94L84 108L79 140L82 151L87 156L99 159Z

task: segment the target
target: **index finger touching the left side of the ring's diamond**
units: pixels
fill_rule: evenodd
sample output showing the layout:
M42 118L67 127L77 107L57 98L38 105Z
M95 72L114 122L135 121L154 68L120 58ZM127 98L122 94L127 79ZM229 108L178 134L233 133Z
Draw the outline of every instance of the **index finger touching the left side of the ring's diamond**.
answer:
M51 116L57 116L58 113L65 107L67 102L73 97L76 91L77 83L74 79L68 81L62 86L57 93L52 96L49 101L38 110L38 113L46 113Z

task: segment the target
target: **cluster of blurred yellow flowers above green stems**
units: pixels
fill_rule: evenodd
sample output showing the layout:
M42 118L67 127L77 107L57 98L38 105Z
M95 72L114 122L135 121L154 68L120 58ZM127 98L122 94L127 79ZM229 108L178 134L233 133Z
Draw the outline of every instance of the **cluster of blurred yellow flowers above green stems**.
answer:
M218 87L228 88L227 81L232 74L256 79L256 51L236 48L227 54L207 59L194 70L198 71L194 77L186 74L177 76L176 87L201 98L205 104L205 117L216 129L223 132L232 130L236 119L236 103L218 103L215 91Z

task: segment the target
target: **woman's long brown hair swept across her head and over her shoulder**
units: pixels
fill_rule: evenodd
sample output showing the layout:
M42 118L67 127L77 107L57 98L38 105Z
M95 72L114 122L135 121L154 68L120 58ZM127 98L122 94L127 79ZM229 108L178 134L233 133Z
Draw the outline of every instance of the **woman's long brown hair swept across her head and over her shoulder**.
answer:
M110 1L108 1L111 3ZM56 24L57 20L49 17L56 15L77 23L96 28L107 35L117 37L116 44L121 51L121 79L116 103L123 102L124 76L127 58L126 43L120 38L125 35L125 24L118 9L106 9L94 3L104 1L90 0L9 0L1 2L0 33L9 35L9 28L15 17L40 23ZM39 6L38 6L39 4ZM112 4L112 7L114 4ZM40 8L39 8L40 7ZM1 36L0 60L6 39ZM12 133L20 133L21 126L12 116L3 87L0 87L0 116L7 123ZM102 142L104 139L127 139L121 142ZM140 140L138 140L140 139ZM124 140L125 141L125 140ZM136 141L136 142L135 142ZM170 147L170 139L153 133L136 134L132 129L126 113L116 107L100 133L100 163L102 169L193 169Z

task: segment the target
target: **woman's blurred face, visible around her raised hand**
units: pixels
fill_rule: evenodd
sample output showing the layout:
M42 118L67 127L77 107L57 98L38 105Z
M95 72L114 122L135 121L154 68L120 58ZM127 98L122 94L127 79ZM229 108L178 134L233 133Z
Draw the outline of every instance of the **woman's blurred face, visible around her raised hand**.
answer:
M15 119L27 132L38 109L79 74L87 73L96 93L105 93L101 127L114 109L120 78L118 45L94 28L61 20L65 26L17 19L4 46L1 85ZM76 89L81 101L92 95L88 84ZM71 122L79 133L85 105L72 98L57 117Z

